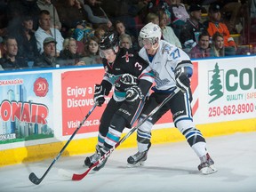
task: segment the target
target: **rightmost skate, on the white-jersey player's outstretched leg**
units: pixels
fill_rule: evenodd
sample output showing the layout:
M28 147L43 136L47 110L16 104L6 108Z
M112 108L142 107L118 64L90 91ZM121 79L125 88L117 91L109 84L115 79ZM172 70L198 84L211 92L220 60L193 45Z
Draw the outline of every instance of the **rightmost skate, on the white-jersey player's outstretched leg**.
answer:
M198 170L203 174L212 174L218 171L208 153L205 156L200 157L200 160L201 164L198 165Z

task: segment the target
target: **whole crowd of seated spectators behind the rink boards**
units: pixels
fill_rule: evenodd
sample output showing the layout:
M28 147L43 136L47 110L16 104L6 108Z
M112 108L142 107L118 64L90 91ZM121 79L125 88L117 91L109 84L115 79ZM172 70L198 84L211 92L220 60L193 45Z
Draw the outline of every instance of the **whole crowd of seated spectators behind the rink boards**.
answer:
M100 38L140 50L140 28L193 58L255 53L256 0L0 0L0 70L100 64Z

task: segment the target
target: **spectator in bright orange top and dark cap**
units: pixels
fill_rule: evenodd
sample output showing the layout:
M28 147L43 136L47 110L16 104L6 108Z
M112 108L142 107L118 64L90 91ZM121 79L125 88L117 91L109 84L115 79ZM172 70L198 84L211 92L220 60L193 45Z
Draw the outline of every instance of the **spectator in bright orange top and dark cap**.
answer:
M219 4L211 4L208 10L209 21L206 21L207 31L210 36L219 32L224 38L225 55L236 54L236 43L230 36L225 23L221 22L221 13Z

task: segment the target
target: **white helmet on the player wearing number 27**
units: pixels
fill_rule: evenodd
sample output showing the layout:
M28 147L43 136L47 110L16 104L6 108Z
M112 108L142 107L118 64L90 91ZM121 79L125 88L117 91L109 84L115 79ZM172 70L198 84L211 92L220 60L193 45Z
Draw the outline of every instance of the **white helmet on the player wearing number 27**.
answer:
M142 41L144 39L148 39L152 44L156 44L156 42L158 42L161 39L161 36L162 36L161 28L158 25L152 22L149 22L140 30L139 44L142 47L143 46Z

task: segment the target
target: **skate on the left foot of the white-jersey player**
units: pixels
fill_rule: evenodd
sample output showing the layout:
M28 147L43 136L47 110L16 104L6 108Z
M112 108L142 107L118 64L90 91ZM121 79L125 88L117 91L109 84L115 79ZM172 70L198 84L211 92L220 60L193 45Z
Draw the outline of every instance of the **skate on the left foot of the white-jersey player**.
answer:
M151 147L151 143L148 144L148 149ZM133 156L129 156L127 159L127 167L143 166L148 157L148 149L146 151L138 151Z

